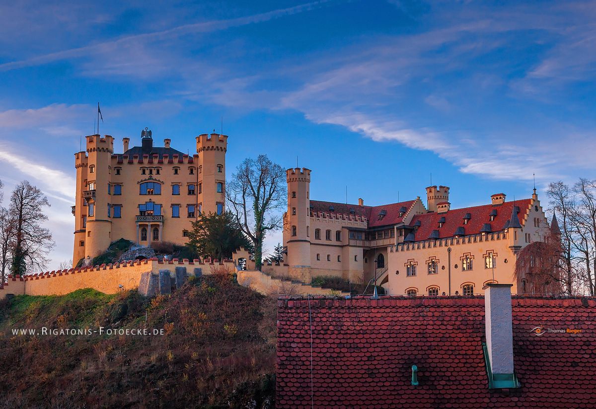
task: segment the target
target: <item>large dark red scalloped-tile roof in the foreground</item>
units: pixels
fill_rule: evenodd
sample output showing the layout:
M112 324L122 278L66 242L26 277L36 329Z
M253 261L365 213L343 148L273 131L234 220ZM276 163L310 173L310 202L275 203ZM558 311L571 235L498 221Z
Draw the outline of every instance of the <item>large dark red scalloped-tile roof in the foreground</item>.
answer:
M279 300L277 408L596 407L596 299L512 305L522 386L489 389L482 297Z

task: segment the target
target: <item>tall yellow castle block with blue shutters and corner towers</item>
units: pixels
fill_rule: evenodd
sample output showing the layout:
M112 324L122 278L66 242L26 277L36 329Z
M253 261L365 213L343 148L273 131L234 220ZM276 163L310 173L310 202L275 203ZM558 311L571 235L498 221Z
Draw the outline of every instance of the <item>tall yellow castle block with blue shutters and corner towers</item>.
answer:
M119 238L184 244L199 213L224 211L227 135L199 135L192 156L172 148L169 138L155 146L147 128L140 146L122 138L122 153L114 153L110 135L85 139L86 149L75 153L74 264Z

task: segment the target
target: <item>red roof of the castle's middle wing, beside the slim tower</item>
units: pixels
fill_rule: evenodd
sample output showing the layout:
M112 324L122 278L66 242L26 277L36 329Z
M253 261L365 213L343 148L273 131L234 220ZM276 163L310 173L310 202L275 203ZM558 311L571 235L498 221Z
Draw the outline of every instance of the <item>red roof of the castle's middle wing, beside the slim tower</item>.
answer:
M322 202L321 200L311 200L311 209L313 212L335 213L350 215L350 210L354 211L357 216L363 216L368 220L368 227L380 227L387 225L394 225L403 222L403 215L399 215L399 210L402 207L406 208L406 212L412 207L415 200L408 200L406 202L383 204L381 206L358 206L358 204L346 204L335 202ZM334 211L330 212L329 207L333 206ZM385 210L387 214L379 219L379 213Z

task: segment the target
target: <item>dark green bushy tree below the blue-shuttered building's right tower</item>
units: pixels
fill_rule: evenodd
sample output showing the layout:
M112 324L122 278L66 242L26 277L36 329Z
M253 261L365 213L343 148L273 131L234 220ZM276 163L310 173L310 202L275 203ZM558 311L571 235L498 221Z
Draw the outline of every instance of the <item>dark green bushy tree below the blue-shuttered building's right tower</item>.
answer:
M244 247L251 252L253 246L249 238L242 233L240 225L230 212L200 213L188 231L188 243L191 250L214 259L231 258L232 252Z

